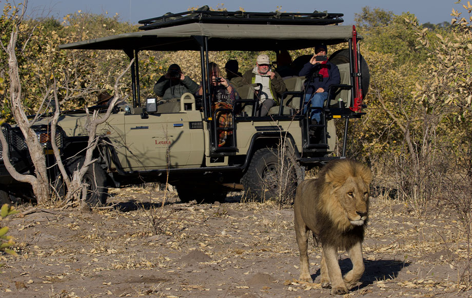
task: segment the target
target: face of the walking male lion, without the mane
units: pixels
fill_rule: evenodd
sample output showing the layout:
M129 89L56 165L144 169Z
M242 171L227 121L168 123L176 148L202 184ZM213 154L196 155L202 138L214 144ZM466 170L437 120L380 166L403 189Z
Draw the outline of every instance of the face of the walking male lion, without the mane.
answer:
M361 177L349 177L336 193L351 225L364 225L369 202L369 187L364 180Z

